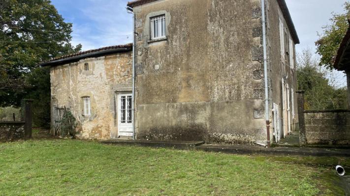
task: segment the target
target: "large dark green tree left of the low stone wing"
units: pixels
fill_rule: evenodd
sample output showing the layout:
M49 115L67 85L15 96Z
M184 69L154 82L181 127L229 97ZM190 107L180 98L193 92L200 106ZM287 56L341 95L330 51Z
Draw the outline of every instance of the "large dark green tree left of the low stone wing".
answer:
M34 119L47 122L50 76L36 65L80 51L81 45L70 44L72 24L64 22L50 0L1 0L0 29L0 106L33 98Z

